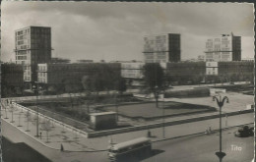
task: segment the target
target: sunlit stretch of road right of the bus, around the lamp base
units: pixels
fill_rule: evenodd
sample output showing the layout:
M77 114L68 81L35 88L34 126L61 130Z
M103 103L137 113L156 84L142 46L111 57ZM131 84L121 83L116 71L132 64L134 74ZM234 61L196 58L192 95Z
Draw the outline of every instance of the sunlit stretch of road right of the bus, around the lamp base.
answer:
M223 132L223 162L251 162L254 156L253 136L235 137L237 128ZM143 162L218 162L215 152L219 151L219 133L213 135L193 135L157 142L153 148L161 152ZM235 149L241 147L241 150Z

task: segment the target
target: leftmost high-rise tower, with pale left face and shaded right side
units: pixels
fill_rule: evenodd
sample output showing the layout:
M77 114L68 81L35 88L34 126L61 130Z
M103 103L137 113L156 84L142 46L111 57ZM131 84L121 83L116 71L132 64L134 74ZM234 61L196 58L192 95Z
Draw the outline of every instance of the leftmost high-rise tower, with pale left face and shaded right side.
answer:
M37 64L50 62L51 50L50 27L25 27L15 31L16 64L24 67L24 81L36 81Z

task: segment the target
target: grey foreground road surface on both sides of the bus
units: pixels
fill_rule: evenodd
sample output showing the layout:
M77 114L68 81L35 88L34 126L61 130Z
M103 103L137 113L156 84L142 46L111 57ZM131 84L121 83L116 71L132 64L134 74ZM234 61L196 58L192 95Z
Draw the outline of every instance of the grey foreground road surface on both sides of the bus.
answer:
M2 127L8 127L9 124L3 122ZM8 127L5 134L9 135L16 142L24 141L28 144L36 142L25 134L19 134L19 131L13 127ZM253 158L253 137L235 137L233 132L237 128L229 129L223 132L223 150L226 153L224 162L250 162ZM231 145L241 146L241 151L231 150ZM41 144L33 144L34 149L46 156L53 162L105 162L107 161L107 152L61 152L59 150L49 149ZM4 148L3 148L4 149ZM219 150L219 133L212 135L191 135L176 139L162 140L153 143L153 155L143 162L218 162L215 152Z

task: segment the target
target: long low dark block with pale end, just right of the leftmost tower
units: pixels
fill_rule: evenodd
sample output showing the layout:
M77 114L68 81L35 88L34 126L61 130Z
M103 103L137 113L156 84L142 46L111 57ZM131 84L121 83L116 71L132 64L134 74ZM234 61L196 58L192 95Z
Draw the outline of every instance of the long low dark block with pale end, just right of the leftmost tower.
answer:
M50 85L82 84L84 76L93 76L100 68L107 66L111 71L120 76L119 63L73 63L73 64L38 64L37 81L48 87Z

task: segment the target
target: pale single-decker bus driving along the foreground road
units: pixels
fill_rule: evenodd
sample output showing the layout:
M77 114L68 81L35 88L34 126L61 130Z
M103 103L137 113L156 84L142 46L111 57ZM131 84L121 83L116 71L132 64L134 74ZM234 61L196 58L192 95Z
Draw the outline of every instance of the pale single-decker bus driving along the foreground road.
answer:
M139 137L110 145L108 147L108 158L110 161L115 162L130 162L150 155L151 150L151 139L148 137Z

